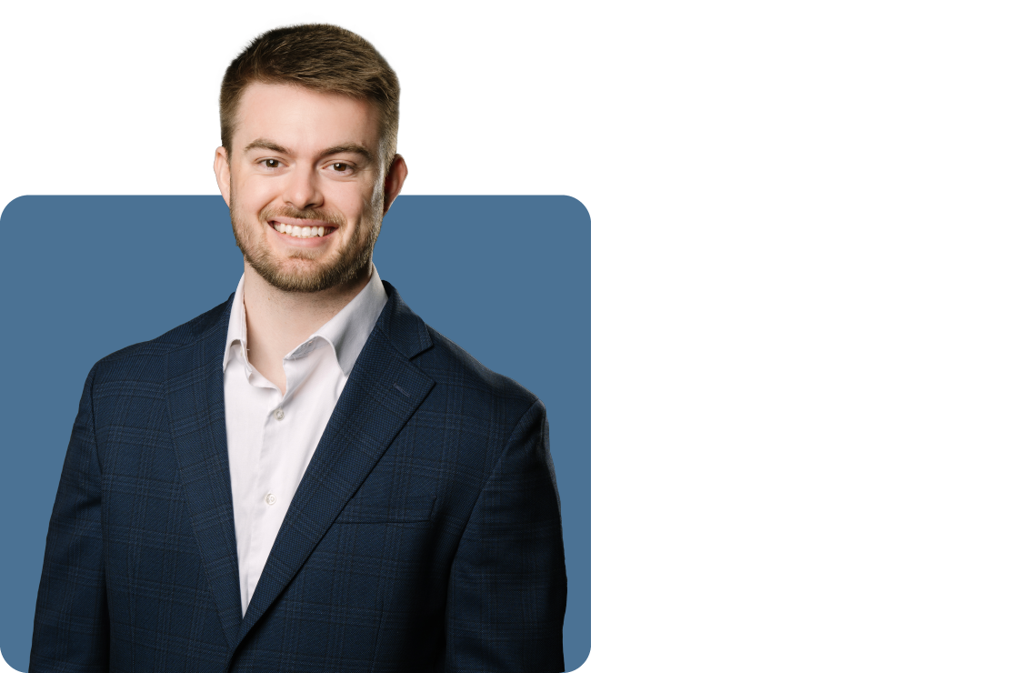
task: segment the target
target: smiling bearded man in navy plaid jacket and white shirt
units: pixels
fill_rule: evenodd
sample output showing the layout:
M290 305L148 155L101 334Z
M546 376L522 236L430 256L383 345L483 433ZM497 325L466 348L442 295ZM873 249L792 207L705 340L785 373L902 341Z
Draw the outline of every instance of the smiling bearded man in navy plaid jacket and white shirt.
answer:
M88 375L30 670L563 670L544 407L372 264L407 174L397 73L310 14L225 60L245 273Z

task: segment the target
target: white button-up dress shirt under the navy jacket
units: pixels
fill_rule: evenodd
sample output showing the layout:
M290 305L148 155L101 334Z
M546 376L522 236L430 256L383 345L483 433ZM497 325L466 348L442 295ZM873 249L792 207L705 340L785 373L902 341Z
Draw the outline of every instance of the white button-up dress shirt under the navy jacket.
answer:
M298 483L386 306L386 290L373 266L369 283L355 299L284 356L282 396L249 361L245 280L244 275L236 288L221 363L244 616Z

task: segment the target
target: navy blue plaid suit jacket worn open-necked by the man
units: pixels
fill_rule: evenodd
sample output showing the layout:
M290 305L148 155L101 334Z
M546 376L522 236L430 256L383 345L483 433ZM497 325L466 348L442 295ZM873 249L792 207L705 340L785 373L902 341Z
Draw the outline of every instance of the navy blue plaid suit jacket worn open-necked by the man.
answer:
M221 357L232 299L88 374L30 671L561 671L544 406L389 301L245 617Z

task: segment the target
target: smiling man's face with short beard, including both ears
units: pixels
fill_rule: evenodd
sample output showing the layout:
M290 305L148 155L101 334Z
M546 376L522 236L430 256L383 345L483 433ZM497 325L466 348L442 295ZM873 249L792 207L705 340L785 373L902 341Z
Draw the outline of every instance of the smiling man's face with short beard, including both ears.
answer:
M253 83L237 117L232 156L218 148L214 173L249 265L285 291L367 278L382 217L406 177L399 156L388 173L380 165L375 106Z

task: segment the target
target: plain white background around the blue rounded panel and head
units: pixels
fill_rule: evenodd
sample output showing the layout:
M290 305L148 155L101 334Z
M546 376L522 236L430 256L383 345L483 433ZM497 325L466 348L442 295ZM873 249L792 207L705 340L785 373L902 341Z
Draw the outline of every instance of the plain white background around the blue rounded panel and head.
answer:
M358 23L403 71L405 193L592 217L582 671L1006 671L1002 4L24 3L0 203L216 193L228 50Z

